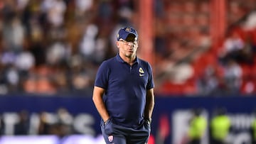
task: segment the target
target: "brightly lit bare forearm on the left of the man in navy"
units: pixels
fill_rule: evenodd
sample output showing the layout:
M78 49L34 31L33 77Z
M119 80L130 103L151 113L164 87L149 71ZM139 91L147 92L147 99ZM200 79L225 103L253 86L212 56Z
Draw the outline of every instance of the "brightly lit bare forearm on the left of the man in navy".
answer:
M96 109L100 113L100 116L102 117L103 121L106 122L110 118L110 115L109 113L107 113L106 106L102 99L104 93L105 89L95 86L93 89L92 101L94 102Z

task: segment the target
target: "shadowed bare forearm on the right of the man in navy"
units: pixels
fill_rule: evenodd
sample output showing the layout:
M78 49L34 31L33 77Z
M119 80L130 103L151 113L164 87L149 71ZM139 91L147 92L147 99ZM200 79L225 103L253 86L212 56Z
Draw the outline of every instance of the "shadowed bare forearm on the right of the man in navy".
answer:
M154 109L154 89L149 89L146 91L146 106L144 110L144 118L151 122L151 117Z

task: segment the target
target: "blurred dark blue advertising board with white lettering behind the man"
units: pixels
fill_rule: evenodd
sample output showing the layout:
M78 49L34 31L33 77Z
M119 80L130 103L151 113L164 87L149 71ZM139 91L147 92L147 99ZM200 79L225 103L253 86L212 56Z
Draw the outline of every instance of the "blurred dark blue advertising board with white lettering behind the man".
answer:
M185 143L188 139L193 109L201 109L210 126L215 109L225 108L232 126L228 142L251 143L250 130L251 123L255 120L255 101L255 97L235 95L172 98L158 96L152 118L151 137L157 144ZM103 142L100 135L100 116L93 106L92 99L88 97L1 96L0 113L1 144L12 144L16 142L12 142L13 139L20 140L19 138L23 137L23 143L46 143L46 138L40 139L43 136L51 138L47 142L49 144L57 143L58 140L58 143L68 144L71 143L70 139L78 144L85 143L86 140L95 140L97 144ZM203 143L209 143L209 130L207 128ZM29 138L38 141L30 142ZM78 142L82 138L85 141Z

